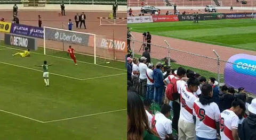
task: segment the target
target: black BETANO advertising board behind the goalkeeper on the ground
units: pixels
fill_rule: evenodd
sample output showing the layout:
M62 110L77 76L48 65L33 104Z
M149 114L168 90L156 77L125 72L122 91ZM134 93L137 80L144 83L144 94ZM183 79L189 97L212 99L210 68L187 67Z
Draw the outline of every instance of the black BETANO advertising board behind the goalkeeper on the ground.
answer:
M11 45L30 50L37 50L37 41L34 38L18 36L13 34L4 34L5 45Z

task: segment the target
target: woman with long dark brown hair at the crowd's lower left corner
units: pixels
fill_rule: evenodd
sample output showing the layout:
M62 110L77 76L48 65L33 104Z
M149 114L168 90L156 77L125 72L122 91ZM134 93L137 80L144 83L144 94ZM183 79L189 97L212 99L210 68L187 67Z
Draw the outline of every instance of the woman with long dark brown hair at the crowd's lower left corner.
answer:
M127 90L127 139L156 140L157 134L150 129L142 100L134 88Z

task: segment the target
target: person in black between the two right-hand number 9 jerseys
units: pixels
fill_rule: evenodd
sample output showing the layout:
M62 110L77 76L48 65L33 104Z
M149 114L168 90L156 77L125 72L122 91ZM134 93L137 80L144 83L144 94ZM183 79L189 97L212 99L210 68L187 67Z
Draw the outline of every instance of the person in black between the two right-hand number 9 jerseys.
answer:
M232 89L232 88L229 88ZM234 89L234 88L233 88ZM231 91L231 90L229 90ZM231 108L231 103L234 101L235 97L233 93L225 93L220 100L220 112L223 110Z

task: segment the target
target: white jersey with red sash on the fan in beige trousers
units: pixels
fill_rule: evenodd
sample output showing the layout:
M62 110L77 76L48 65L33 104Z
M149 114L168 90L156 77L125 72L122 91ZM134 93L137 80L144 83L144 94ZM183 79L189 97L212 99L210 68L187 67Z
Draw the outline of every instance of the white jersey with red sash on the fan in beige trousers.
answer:
M186 86L183 86L180 91L180 119L188 123L194 123L193 104L197 97Z

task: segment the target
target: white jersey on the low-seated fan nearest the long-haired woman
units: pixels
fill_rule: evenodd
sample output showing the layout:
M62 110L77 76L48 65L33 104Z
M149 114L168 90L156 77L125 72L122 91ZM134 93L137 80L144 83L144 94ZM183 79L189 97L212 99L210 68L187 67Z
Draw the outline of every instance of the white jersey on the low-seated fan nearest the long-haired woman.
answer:
M167 134L172 134L172 121L167 119L162 113L157 113L153 117L151 127L158 133L161 139L165 139Z

